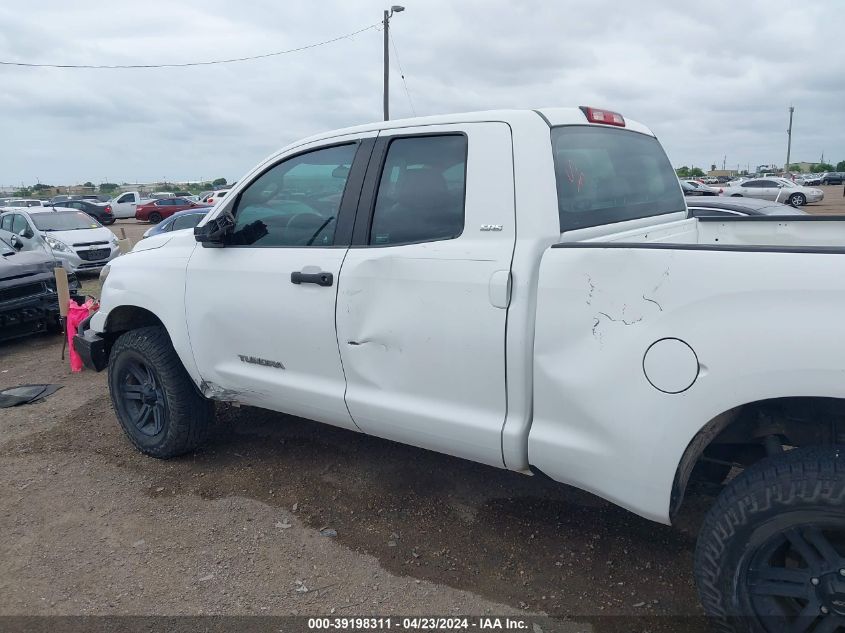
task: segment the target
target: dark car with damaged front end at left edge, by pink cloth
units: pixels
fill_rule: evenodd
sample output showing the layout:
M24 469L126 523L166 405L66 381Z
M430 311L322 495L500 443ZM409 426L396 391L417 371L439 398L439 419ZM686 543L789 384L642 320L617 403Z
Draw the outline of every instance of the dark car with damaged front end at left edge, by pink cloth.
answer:
M59 301L52 254L23 250L23 241L0 229L0 341L59 330ZM79 281L68 274L71 294Z

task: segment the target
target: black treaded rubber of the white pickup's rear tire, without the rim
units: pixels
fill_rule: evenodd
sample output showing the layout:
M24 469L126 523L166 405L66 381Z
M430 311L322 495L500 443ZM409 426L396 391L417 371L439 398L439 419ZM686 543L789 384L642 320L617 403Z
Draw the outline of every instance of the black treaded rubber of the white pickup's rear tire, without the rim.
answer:
M771 535L831 523L845 529L845 446L791 450L735 477L708 512L695 551L696 584L714 628L785 630L782 621L760 618L752 608L749 562ZM845 623L845 616L836 617Z

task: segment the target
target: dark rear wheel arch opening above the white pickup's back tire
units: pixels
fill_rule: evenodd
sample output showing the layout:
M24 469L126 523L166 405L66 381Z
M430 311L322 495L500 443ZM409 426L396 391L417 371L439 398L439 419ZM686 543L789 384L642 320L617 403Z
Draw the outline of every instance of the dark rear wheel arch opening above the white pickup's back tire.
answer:
M687 445L675 470L670 517L680 509L695 465L715 452L720 461L742 467L764 459L767 438L790 447L845 442L845 398L792 396L767 398L714 416Z

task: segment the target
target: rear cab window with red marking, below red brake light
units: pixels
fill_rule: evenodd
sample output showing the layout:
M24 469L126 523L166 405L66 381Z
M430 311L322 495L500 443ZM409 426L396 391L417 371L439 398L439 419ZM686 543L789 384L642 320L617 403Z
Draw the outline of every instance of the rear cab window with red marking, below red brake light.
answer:
M686 211L653 136L598 126L552 129L560 230Z

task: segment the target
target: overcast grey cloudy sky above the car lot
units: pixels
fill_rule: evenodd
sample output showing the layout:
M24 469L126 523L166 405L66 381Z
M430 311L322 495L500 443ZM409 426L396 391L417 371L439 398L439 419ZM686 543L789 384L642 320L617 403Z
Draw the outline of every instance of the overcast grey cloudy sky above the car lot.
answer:
M672 163L845 159L842 0L404 0L392 33L418 115L595 105ZM0 61L256 55L381 19L370 0L3 0ZM393 60L394 118L411 116ZM0 66L0 185L238 179L279 147L381 118L382 33L258 61L149 70Z

